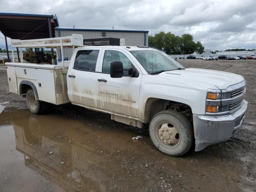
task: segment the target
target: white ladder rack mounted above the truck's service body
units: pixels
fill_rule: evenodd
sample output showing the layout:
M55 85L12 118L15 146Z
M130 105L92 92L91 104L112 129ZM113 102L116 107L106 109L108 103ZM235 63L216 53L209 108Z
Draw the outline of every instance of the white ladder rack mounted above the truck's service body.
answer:
M64 73L64 56L63 48L76 48L84 46L83 36L80 34L72 34L72 36L66 37L55 37L55 38L45 38L45 39L32 39L32 40L17 40L11 39L12 48L60 48L62 56L62 71ZM56 52L57 53L57 52ZM22 56L22 50L20 49L20 54ZM14 58L14 52L12 49L12 58ZM58 55L57 55L58 60ZM15 62L15 60L13 61ZM23 59L21 57L21 62Z

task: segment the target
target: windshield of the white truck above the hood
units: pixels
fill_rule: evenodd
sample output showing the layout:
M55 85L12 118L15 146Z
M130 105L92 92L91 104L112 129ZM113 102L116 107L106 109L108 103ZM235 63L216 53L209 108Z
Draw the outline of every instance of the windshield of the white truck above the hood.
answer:
M148 74L157 72L184 69L176 60L158 50L136 50L130 51L140 62Z

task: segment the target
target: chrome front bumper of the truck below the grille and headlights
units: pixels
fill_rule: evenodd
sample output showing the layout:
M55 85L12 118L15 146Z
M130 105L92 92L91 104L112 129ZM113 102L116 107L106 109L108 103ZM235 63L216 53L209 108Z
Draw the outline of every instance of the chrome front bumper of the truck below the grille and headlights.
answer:
M209 145L228 140L245 118L248 102L243 100L239 110L222 116L193 115L195 151L200 151Z

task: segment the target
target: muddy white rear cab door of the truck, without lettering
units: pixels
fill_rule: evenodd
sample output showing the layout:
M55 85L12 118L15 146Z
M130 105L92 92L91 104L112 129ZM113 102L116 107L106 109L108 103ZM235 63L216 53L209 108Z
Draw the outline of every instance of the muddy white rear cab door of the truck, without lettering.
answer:
M67 73L67 86L68 98L73 104L97 107L96 69L101 51L102 48L82 48L72 57Z

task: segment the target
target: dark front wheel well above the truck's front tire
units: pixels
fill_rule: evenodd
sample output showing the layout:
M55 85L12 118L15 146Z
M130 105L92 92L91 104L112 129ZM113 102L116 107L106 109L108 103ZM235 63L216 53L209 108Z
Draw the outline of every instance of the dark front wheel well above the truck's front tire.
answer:
M149 123L155 114L163 110L174 110L184 114L188 120L193 120L192 109L187 104L158 98L148 98L144 112L144 123Z

